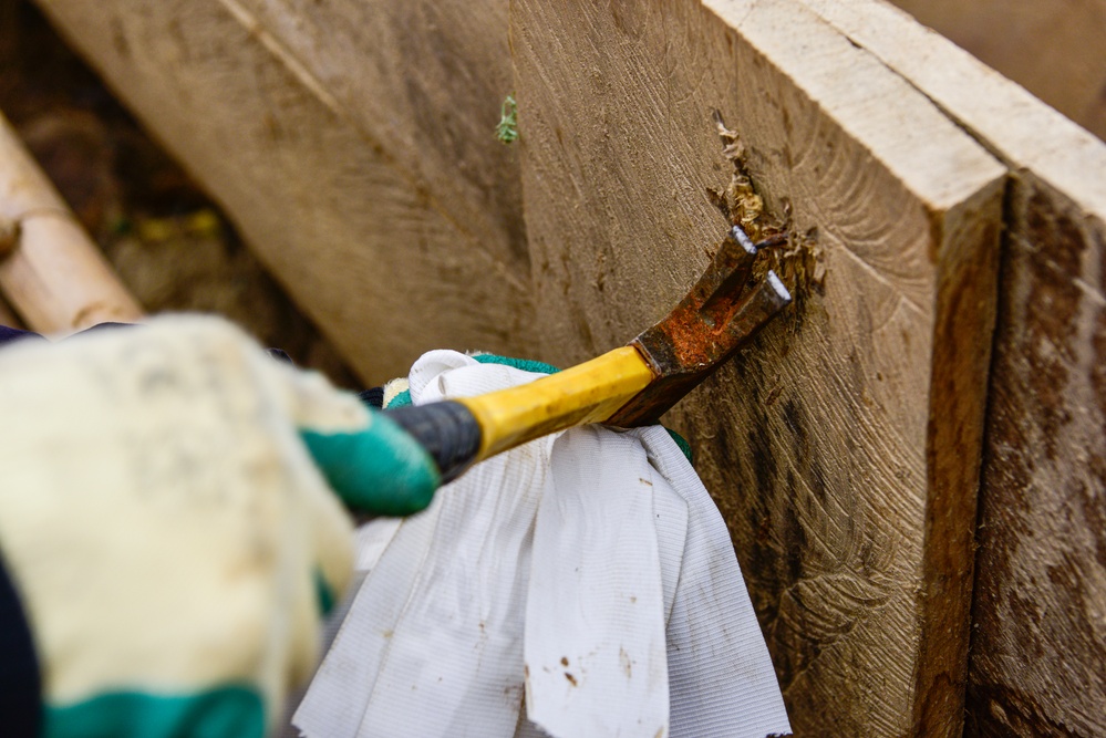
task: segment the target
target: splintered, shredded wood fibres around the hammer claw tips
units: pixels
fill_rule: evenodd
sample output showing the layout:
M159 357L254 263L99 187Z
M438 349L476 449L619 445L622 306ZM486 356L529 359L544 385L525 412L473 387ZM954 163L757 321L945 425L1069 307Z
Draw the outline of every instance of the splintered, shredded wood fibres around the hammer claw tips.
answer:
M758 282L769 269L774 270L790 290L798 310L812 290L824 293L826 267L817 231L809 229L800 232L794 227L790 201L786 198L781 199L783 212L779 216L765 211L764 198L757 193L748 173L747 150L741 135L726 126L719 111L713 111L713 118L722 143L722 155L733 166L733 174L724 188L709 188L707 197L730 225L741 226L754 243L776 236L786 237L786 241L778 246L761 249L751 281Z

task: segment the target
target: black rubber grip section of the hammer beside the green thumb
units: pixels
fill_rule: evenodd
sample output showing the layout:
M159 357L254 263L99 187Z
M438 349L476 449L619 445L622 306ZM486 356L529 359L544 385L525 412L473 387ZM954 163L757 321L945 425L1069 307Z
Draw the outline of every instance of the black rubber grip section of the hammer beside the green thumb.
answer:
M480 450L480 426L461 403L405 405L384 410L401 428L423 445L437 464L442 484L464 472Z

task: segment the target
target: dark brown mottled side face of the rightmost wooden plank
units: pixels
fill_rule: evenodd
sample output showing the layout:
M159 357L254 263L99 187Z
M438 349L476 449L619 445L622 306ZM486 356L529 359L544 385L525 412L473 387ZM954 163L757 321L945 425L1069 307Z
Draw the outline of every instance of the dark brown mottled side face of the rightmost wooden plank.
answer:
M1106 735L1106 221L1088 215L1030 174L1010 196L969 735Z

